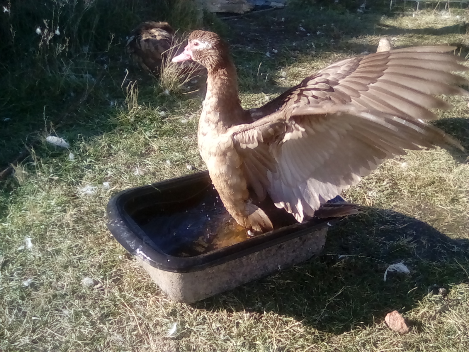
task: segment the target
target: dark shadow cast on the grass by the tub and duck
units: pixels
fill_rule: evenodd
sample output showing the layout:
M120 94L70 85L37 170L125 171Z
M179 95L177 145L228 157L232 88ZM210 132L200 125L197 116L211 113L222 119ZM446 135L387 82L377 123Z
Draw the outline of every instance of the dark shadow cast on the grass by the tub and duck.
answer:
M370 209L329 230L325 249L276 275L195 304L207 310L274 312L331 333L407 311L435 287L467 282L469 240L390 210ZM388 273L403 261L411 275ZM436 286L435 286L436 285Z

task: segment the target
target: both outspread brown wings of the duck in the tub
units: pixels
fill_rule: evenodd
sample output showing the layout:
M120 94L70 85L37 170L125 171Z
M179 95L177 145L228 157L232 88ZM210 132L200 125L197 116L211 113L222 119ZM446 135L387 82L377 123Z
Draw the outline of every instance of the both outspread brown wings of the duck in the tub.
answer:
M360 181L383 160L406 149L461 145L425 123L433 108L449 108L437 94L468 94L468 70L450 46L395 49L336 62L252 109L250 124L232 127L256 193L277 207L314 214L321 203ZM257 163L256 165L254 165Z

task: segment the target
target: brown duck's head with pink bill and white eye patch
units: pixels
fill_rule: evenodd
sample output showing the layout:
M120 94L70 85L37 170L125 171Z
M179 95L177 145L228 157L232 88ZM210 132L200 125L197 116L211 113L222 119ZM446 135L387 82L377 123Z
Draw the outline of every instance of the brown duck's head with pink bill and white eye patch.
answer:
M193 31L182 54L174 56L173 62L194 60L213 71L231 62L227 43L218 34L208 31Z

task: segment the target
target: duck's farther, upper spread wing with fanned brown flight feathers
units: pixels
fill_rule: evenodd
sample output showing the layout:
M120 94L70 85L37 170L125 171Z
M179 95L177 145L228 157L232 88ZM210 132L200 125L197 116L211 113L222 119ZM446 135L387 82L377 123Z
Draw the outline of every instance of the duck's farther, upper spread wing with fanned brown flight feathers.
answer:
M419 46L354 57L333 63L263 107L250 110L254 119L286 111L293 105L349 104L391 115L434 119L431 108L448 108L437 94L467 94L455 86L466 80L452 71L467 68L452 46ZM450 85L448 85L449 83Z

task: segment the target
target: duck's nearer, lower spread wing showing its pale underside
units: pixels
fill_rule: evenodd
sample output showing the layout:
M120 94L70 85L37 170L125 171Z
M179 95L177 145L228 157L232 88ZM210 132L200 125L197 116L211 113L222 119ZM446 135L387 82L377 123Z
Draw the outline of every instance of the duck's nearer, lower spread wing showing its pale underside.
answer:
M431 125L354 107L302 107L230 128L244 174L259 198L303 221L404 149L455 145Z

